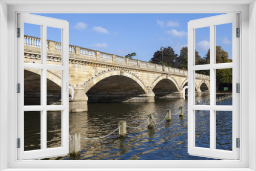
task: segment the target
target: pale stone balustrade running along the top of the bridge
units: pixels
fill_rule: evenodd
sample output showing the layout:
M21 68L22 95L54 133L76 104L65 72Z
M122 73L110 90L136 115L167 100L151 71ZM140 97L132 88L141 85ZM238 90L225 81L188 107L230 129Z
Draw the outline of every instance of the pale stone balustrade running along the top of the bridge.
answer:
M31 48L33 52L38 51L40 54L41 40L38 37L24 36L24 51L25 53L31 53ZM47 40L47 51L56 52L56 54L47 54L48 60L61 61L61 43ZM118 55L113 55L105 52L100 52L92 49L82 48L78 46L69 46L70 59L81 60L81 61L94 61L98 63L107 63L111 65L121 65L127 68L136 68L141 70L163 72L169 74L178 74L187 76L187 71L180 70L177 68L161 66L151 62L145 62L136 59L125 58ZM53 55L53 56L51 56ZM38 56L38 55L37 55ZM40 55L39 55L40 57ZM197 78L209 79L208 75L196 74Z

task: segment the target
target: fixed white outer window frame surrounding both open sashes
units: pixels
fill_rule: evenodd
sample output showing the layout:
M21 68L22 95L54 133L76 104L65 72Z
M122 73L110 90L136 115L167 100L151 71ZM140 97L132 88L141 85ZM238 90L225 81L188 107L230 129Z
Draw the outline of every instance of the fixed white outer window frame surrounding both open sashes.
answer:
M5 1L8 3L8 1ZM104 1L104 4L100 2L84 2L83 5L52 5L50 3L61 3L55 1L43 1L44 5L31 5L28 3L35 3L35 1L19 1L11 3L27 3L27 5L10 5L5 2L0 2L0 110L1 110L1 127L0 127L0 169L8 168L7 170L22 170L19 168L27 168L26 170L39 170L39 168L46 168L44 170L74 170L74 168L87 168L84 170L90 170L90 168L104 168L109 170L121 170L120 168L131 168L131 170L148 170L145 168L151 168L151 170L177 170L176 168L184 168L184 170L255 170L256 169L256 136L255 136L255 111L256 111L256 70L255 70L255 56L256 56L256 6L253 1L211 1L211 5L200 5L202 2L189 1L189 5L186 5L186 1L131 1L119 2L119 4L113 5L111 1ZM69 2L75 4L76 1ZM81 2L78 2L81 3ZM103 3L103 2L101 2ZM105 5L108 4L109 5ZM175 4L176 3L176 4ZM206 2L204 1L204 4ZM221 3L221 4L218 4ZM232 5L237 3L237 5ZM240 3L240 5L239 5ZM247 3L247 4L246 4ZM250 5L248 5L251 3ZM183 4L183 5L177 5ZM227 5L223 5L227 4ZM242 5L241 5L242 4ZM244 5L243 5L244 4ZM156 8L158 6L158 8ZM135 8L136 7L136 8ZM240 160L223 160L223 161L201 161L201 160L169 160L169 161L17 161L16 156L16 13L17 12L29 12L29 13L227 13L238 12L240 13L240 78L241 78L241 95L240 95ZM248 13L249 11L249 13ZM250 15L249 15L250 14ZM6 15L8 16L8 22ZM170 18L172 19L172 18ZM8 24L8 25L7 25ZM8 28L8 30L7 30ZM5 35L8 33L8 37ZM250 34L250 36L249 36ZM5 45L8 42L8 46ZM4 51L3 48L8 48L8 51ZM6 65L6 56L8 56L8 66ZM248 62L250 60L250 62ZM1 68L2 67L2 68ZM249 69L250 68L250 72ZM6 74L6 69L8 73ZM250 79L248 79L250 78ZM250 84L249 84L250 83ZM5 93L7 89L8 93ZM248 89L250 93L248 93ZM7 104L4 103L6 97L2 95L8 95ZM250 101L249 101L250 99ZM250 112L249 112L249 105ZM5 108L5 105L8 108ZM8 116L6 116L8 114ZM243 116L243 117L241 117ZM8 124L7 124L8 122ZM6 131L7 130L7 131ZM62 168L62 169L61 169ZM70 168L70 169L68 169ZM144 169L143 169L144 168ZM167 169L168 168L168 169ZM194 169L193 169L194 168ZM215 168L215 169L210 169ZM224 169L223 169L224 168ZM237 169L235 169L237 168ZM23 169L24 170L24 169ZM91 169L92 170L92 169ZM181 169L180 169L181 170Z

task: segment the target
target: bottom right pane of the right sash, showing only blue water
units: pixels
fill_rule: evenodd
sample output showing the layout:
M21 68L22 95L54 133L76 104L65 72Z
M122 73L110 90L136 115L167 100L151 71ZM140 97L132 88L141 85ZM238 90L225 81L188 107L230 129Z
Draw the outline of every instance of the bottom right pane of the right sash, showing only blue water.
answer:
M232 151L231 111L216 111L216 149Z

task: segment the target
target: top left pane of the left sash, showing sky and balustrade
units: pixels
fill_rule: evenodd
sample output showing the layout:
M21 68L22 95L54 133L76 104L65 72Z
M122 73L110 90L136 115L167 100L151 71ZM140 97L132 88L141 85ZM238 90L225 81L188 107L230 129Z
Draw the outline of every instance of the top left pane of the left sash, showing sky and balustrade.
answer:
M41 63L41 26L24 23L24 62Z

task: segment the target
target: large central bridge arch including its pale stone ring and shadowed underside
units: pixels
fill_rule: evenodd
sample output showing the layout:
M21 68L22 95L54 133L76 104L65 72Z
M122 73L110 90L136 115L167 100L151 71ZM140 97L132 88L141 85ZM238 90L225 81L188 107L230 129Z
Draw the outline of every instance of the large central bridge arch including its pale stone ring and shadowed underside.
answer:
M126 71L107 71L84 85L88 102L153 102L138 76ZM154 97L153 97L154 98Z

